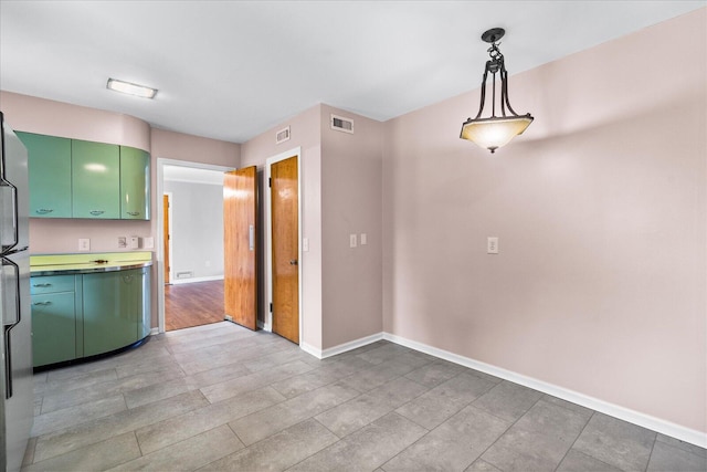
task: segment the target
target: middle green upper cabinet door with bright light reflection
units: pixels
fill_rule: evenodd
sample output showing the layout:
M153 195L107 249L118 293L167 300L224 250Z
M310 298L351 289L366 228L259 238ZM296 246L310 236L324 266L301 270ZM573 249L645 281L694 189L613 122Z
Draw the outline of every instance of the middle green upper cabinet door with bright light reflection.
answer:
M116 145L72 140L74 218L120 218L120 150Z

